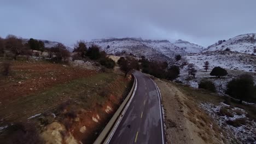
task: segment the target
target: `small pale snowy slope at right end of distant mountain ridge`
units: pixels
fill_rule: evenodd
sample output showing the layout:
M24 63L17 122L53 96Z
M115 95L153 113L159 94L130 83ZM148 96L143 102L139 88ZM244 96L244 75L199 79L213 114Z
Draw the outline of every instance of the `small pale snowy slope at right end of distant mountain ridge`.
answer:
M188 53L198 53L204 50L204 48L200 45L189 43L189 41L177 40L174 43L175 46L180 47L182 50Z

